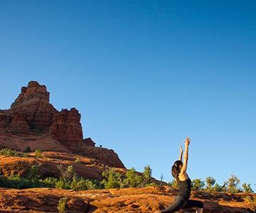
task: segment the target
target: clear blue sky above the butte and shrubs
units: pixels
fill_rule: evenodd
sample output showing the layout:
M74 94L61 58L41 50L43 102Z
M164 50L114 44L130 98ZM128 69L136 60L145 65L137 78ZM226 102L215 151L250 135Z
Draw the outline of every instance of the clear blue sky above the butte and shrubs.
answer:
M165 181L191 136L191 178L256 184L255 56L256 1L0 1L0 109L37 80Z

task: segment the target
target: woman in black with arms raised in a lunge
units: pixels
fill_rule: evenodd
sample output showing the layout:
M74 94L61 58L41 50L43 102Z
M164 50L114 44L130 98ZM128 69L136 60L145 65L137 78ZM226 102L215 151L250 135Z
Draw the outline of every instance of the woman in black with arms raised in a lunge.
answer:
M174 176L178 183L178 188L179 192L178 195L175 197L174 202L167 207L164 210L161 211L156 211L154 213L171 213L171 212L176 212L179 209L190 209L193 207L196 207L197 213L202 213L203 212L203 202L198 201L198 200L189 200L190 195L191 195L191 180L188 178L188 174L186 173L187 166L188 166L188 146L190 143L190 138L186 138L185 141L185 155L183 162L182 160L182 154L183 154L183 149L180 146L180 158L179 160L176 160L174 162L174 165L171 168L171 175Z

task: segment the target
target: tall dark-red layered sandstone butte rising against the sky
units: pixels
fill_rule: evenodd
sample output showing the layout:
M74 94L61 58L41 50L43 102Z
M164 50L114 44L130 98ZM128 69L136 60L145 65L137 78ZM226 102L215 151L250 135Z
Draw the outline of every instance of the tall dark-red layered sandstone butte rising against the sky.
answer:
M0 110L0 147L23 151L61 151L85 155L124 168L118 155L107 148L97 148L90 139L83 140L78 110L58 111L49 102L50 93L36 81L21 88L11 109Z

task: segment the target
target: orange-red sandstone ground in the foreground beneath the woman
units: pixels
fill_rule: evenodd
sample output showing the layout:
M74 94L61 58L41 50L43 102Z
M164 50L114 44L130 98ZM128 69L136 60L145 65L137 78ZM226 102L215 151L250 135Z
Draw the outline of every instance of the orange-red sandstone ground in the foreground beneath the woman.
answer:
M195 200L204 202L204 213L254 213L256 205L247 202L245 197L255 198L255 194L227 195L208 194L208 198L193 193ZM14 190L0 188L1 212L58 212L61 197L68 197L66 212L95 213L151 213L164 209L174 200L174 192L169 187L146 187L110 190L60 190L35 188ZM218 200L216 200L218 197ZM225 201L229 197L232 201ZM196 212L195 209L182 209L180 213Z

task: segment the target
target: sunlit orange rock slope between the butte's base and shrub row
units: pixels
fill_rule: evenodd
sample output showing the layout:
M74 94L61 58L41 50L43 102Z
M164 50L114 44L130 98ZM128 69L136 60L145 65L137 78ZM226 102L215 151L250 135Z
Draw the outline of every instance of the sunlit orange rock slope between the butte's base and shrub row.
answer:
M79 163L75 163L77 158L79 158ZM80 177L98 181L102 180L101 174L105 170L104 161L71 153L45 151L42 154L42 158L35 158L34 153L28 153L28 157L0 155L0 174L4 176L19 175L25 177L28 175L32 165L38 166L38 175L41 178L59 178L58 165L63 165L65 168L68 165L72 165ZM126 171L125 169L118 170L123 173Z

